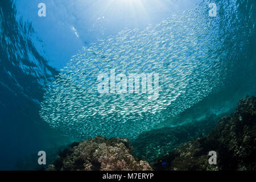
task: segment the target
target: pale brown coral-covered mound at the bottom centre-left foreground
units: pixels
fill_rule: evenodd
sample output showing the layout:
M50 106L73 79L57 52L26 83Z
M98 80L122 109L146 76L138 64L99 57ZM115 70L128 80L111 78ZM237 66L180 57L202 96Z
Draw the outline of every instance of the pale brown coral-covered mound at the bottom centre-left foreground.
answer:
M74 143L61 152L48 170L136 171L151 170L150 165L133 155L128 139L98 136Z

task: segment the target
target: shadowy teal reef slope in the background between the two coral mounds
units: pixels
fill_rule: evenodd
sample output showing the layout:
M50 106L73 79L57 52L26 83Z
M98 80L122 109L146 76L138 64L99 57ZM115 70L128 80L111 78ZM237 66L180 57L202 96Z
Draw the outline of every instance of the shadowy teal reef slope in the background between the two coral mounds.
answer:
M180 144L208 135L216 126L218 118L212 114L205 119L184 125L144 131L137 139L131 141L134 154L152 164L156 158L167 155Z

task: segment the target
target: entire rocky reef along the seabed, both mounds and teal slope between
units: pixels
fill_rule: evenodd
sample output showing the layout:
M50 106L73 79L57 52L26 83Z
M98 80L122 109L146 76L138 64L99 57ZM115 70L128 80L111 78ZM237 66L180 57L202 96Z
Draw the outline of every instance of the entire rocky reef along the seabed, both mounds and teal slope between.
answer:
M143 133L131 143L135 152L125 138L75 142L47 170L256 170L256 97L240 100L236 111L218 122L216 116L209 119ZM216 151L216 165L209 164L209 151Z

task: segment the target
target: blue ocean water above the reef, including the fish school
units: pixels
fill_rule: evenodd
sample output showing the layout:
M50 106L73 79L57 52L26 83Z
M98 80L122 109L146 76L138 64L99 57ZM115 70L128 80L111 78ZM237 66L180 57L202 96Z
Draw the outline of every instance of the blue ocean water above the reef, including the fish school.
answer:
M38 3L0 2L0 169L73 140L134 140L229 113L255 96L252 0L215 1L216 15L211 1L47 0L39 17ZM154 92L141 93L141 76L139 93L111 93L111 73L123 74L115 84L129 73L155 75Z

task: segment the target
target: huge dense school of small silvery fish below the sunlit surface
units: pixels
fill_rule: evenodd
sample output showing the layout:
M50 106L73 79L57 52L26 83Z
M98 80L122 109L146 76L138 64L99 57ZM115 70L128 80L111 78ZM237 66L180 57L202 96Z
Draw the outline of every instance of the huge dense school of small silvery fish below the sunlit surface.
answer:
M226 13L216 17L208 15L207 2L82 48L47 88L40 111L44 121L74 138L133 139L220 90L248 35L236 36L241 31L239 24L233 27L239 21L233 16L236 1L219 1ZM241 44L227 44L230 39ZM159 73L159 97L98 93L97 77L110 69L116 75Z

